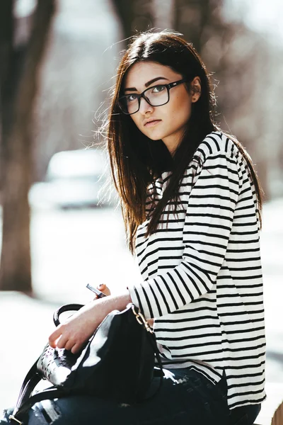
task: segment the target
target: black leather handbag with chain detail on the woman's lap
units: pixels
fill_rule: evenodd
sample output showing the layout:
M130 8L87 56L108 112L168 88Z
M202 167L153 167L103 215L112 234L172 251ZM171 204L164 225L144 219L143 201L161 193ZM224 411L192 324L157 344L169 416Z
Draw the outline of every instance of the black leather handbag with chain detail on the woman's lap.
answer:
M54 323L58 326L62 312L81 307L63 305L54 312ZM160 368L160 390L163 370L154 332L137 307L129 303L122 312L113 310L105 317L81 353L47 344L26 375L9 419L23 425L33 404L68 395L95 395L128 404L151 399L158 392L146 394L154 377L155 358ZM42 379L53 386L32 395Z

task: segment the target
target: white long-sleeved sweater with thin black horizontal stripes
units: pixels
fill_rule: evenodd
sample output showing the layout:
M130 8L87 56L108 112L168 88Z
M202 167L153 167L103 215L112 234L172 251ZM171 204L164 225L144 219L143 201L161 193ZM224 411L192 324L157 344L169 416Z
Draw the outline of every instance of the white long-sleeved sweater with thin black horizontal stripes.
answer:
M183 175L177 215L169 202L156 232L145 237L151 200L162 198L170 176L165 171L149 187L136 240L142 279L129 287L132 302L154 318L165 367L195 368L213 382L225 370L230 409L260 403L265 322L248 165L226 135L207 135Z

